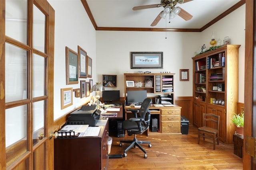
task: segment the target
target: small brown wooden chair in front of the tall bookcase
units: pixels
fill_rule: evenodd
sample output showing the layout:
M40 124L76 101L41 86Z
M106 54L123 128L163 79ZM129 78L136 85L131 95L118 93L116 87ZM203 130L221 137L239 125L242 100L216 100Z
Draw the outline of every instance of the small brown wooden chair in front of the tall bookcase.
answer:
M211 113L204 113L203 127L198 128L198 144L200 137L213 139L213 149L215 150L215 142L219 145L219 124L220 116Z

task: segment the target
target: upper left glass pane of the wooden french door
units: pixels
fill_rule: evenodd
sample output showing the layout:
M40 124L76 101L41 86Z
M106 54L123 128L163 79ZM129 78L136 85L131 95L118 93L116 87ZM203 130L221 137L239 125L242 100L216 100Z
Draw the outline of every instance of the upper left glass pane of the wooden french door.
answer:
M28 2L27 0L6 0L5 34L28 44Z

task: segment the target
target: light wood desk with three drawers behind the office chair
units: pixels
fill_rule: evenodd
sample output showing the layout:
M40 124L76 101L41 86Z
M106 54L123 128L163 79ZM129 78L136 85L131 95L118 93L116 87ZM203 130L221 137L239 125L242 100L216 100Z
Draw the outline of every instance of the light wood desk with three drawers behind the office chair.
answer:
M151 120L153 118L158 119L158 130L159 132L152 132L151 128L148 129L147 135L152 134L181 134L181 122L180 122L180 106L162 106L156 107L154 105L150 105L148 109L150 109ZM124 106L125 110L125 119L129 119L132 117L132 112L127 111L127 109L140 109L134 106ZM152 123L150 123L152 125Z

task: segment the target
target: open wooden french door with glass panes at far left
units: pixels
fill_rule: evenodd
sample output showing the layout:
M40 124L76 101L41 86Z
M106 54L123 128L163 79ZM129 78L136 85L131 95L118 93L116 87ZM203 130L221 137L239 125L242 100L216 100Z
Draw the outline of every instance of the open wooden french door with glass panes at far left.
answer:
M54 10L1 0L0 169L53 169Z

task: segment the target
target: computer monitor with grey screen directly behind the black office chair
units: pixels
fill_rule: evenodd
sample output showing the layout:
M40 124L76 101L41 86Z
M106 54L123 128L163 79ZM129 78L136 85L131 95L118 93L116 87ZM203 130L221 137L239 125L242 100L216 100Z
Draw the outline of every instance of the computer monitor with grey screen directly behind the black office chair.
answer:
M144 99L147 98L147 90L127 91L128 104L142 104Z

